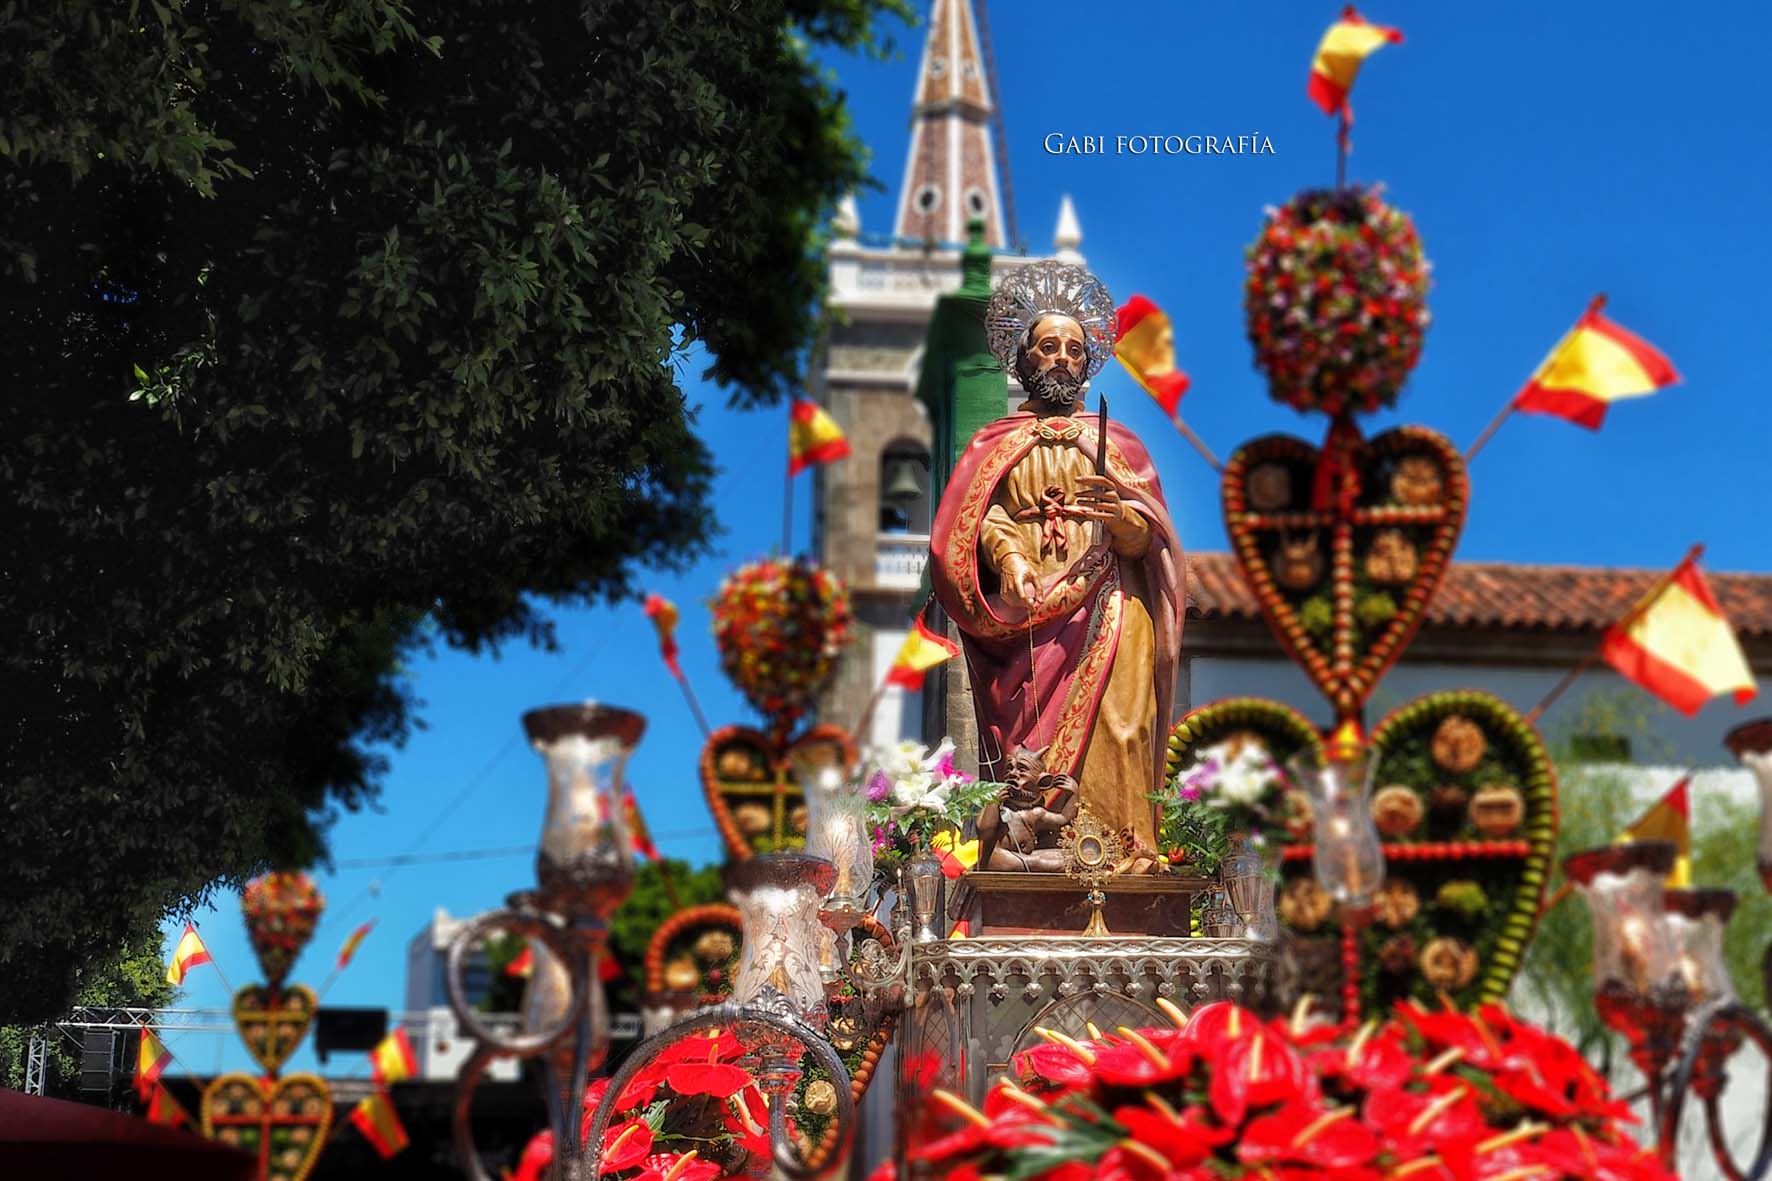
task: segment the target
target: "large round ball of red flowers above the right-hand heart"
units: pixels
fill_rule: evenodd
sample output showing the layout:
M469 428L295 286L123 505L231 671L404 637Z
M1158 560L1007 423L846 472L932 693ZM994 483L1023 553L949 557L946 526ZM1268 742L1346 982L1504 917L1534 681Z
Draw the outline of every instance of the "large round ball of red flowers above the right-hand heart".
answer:
M1269 392L1331 417L1396 401L1421 358L1428 262L1377 188L1306 190L1246 252L1244 319Z

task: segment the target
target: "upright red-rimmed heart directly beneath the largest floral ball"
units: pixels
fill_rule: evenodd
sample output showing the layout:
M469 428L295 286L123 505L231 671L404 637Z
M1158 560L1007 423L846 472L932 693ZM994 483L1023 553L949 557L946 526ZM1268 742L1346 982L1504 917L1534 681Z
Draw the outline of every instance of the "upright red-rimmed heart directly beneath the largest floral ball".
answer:
M1267 626L1336 715L1357 716L1458 544L1464 458L1426 427L1361 440L1338 422L1322 450L1288 434L1246 443L1221 498Z

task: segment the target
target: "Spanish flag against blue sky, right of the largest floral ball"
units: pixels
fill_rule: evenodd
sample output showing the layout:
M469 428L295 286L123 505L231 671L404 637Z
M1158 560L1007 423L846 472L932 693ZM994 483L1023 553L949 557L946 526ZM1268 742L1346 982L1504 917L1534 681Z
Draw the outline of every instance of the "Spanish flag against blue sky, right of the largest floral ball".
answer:
M1595 296L1575 326L1538 365L1513 408L1568 418L1598 431L1605 410L1625 397L1643 397L1680 379L1653 344L1600 316L1605 296Z

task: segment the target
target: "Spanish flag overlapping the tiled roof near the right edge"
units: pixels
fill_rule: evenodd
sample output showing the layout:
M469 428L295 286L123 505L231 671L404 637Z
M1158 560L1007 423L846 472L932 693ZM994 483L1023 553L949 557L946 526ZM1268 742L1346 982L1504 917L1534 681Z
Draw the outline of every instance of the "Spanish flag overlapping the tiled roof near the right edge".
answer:
M1685 716L1719 693L1733 693L1737 706L1756 693L1742 644L1698 571L1698 548L1685 555L1655 598L1600 642L1607 663Z

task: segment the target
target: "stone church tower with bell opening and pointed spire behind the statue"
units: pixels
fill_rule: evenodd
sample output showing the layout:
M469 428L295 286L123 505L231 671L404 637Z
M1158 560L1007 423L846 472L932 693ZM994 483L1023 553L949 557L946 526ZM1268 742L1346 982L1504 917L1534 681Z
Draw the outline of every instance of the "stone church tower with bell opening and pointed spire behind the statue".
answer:
M820 709L842 727L856 725L923 603L934 438L916 387L936 300L960 285L968 220L985 223L994 275L1035 261L1010 246L1015 218L983 16L983 0L929 7L893 232L863 232L854 200L833 223L828 298L840 323L813 356L810 392L851 445L847 459L815 468L813 498L813 551L849 583L859 624ZM1065 199L1053 248L1081 261L1081 238ZM921 736L921 695L888 686L856 738Z

